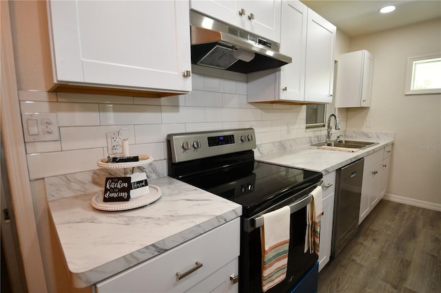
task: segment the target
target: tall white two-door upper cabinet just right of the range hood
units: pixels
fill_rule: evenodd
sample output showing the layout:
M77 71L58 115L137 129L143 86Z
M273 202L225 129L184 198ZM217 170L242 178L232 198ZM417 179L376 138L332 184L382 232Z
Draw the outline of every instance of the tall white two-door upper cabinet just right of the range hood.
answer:
M332 102L336 27L296 0L282 1L280 53L292 63L248 74L248 102Z

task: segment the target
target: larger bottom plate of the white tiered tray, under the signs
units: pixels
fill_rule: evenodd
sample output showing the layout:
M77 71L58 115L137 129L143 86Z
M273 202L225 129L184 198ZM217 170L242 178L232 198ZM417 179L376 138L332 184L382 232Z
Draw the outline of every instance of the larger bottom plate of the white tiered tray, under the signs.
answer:
M90 204L93 208L97 210L131 210L132 208L141 208L141 206L147 206L147 204L152 204L161 197L163 191L156 185L149 185L150 193L146 195L141 195L130 199L127 202L103 202L103 192L101 191L97 195L92 197Z

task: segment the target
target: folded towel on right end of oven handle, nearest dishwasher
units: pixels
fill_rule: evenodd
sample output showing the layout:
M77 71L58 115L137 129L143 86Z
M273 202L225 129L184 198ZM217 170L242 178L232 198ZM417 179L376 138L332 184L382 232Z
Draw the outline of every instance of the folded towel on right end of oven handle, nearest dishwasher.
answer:
M323 215L322 207L322 187L317 186L310 193L312 201L306 208L306 235L305 235L305 252L315 252L318 255L320 248L320 219Z

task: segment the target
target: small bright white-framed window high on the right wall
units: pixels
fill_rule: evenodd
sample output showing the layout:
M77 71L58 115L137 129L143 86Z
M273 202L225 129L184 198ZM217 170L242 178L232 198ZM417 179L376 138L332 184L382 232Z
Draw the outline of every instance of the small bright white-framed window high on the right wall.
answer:
M407 62L407 95L441 93L441 54L416 56Z

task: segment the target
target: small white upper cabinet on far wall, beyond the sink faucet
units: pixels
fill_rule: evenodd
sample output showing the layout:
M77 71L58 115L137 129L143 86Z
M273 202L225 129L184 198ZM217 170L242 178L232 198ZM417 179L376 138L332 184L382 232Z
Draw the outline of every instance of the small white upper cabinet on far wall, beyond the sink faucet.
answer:
M370 107L373 55L366 50L338 57L336 107Z

